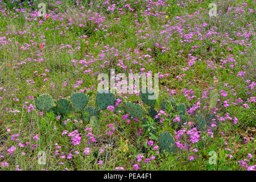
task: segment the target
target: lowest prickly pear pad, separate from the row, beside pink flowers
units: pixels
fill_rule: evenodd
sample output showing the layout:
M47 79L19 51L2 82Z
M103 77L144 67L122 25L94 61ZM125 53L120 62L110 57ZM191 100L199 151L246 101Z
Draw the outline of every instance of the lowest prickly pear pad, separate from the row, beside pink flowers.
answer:
M172 137L168 131L164 131L160 134L159 143L161 153L167 151L170 154L174 154L177 151L177 145L175 143L174 137Z

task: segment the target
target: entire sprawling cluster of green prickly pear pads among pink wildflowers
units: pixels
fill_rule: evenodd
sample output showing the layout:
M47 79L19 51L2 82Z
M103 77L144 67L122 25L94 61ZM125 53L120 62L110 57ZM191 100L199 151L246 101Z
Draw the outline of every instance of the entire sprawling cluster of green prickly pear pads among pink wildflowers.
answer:
M141 92L141 100L144 104L150 106L147 110L148 115L154 119L155 123L159 123L159 119L155 118L158 114L158 111L156 111L155 99L150 99L154 96L154 93L150 94L148 92L142 93ZM99 90L96 94L96 104L97 107L94 106L87 106L88 105L88 97L85 93L82 92L76 92L73 93L70 97L70 100L67 98L59 98L56 102L53 101L52 97L49 94L42 94L38 98L36 98L36 107L39 110L53 110L55 113L60 113L61 115L65 115L68 113L71 113L71 111L75 111L76 113L81 114L81 119L86 123L89 124L93 131L98 133L100 131L100 121L99 121L99 111L105 110L108 106L114 105L116 99L120 98L119 96L115 97L113 93L106 92L106 90ZM139 119L142 121L143 125L146 125L148 123L147 118L143 118L143 107L141 104L135 104L133 102L126 102L123 98L120 98L122 100L121 103L119 103L118 106L115 107L114 113L117 114L118 111L125 111L125 113L129 114L131 117L135 119ZM177 114L181 117L181 123L184 123L185 121L185 114L186 114L186 106L184 104L179 104L177 107L175 107L175 100L174 98L168 98L167 100L164 100L160 104L160 110L170 110L171 105L171 111L175 111ZM205 129L208 126L207 121L212 121L214 118L214 115L206 115L205 119L202 115L198 116L199 120L199 127L200 129ZM152 123L151 123L152 124ZM151 125L150 124L150 125ZM155 124L153 124L155 125ZM148 130L149 125L144 126L144 129ZM154 128L154 127L153 127ZM151 133L155 133L154 130L150 130ZM175 143L174 138L168 131L164 131L159 136L159 146L160 146L160 152L169 152L170 154L174 154L177 150L177 146Z

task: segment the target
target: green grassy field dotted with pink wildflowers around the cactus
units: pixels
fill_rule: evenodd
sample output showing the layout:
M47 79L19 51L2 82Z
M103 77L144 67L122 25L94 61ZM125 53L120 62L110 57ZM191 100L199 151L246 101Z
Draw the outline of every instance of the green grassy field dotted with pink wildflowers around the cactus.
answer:
M0 170L255 170L254 10L253 0L0 0ZM135 90L99 109L98 75L110 69L158 73L154 106ZM79 110L75 92L89 98ZM47 111L36 106L46 93Z

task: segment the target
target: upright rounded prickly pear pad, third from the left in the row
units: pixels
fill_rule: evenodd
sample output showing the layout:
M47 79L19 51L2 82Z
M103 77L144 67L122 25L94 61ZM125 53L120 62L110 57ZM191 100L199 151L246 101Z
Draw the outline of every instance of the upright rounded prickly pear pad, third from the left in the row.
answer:
M84 109L84 106L88 104L88 97L83 92L73 93L70 99L76 112Z

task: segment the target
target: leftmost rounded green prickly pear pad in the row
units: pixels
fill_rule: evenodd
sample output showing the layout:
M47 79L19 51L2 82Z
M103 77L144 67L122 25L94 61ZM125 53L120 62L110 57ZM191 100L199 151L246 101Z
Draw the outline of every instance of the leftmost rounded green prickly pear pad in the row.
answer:
M52 97L49 94L41 94L35 100L36 109L47 111L55 106Z

